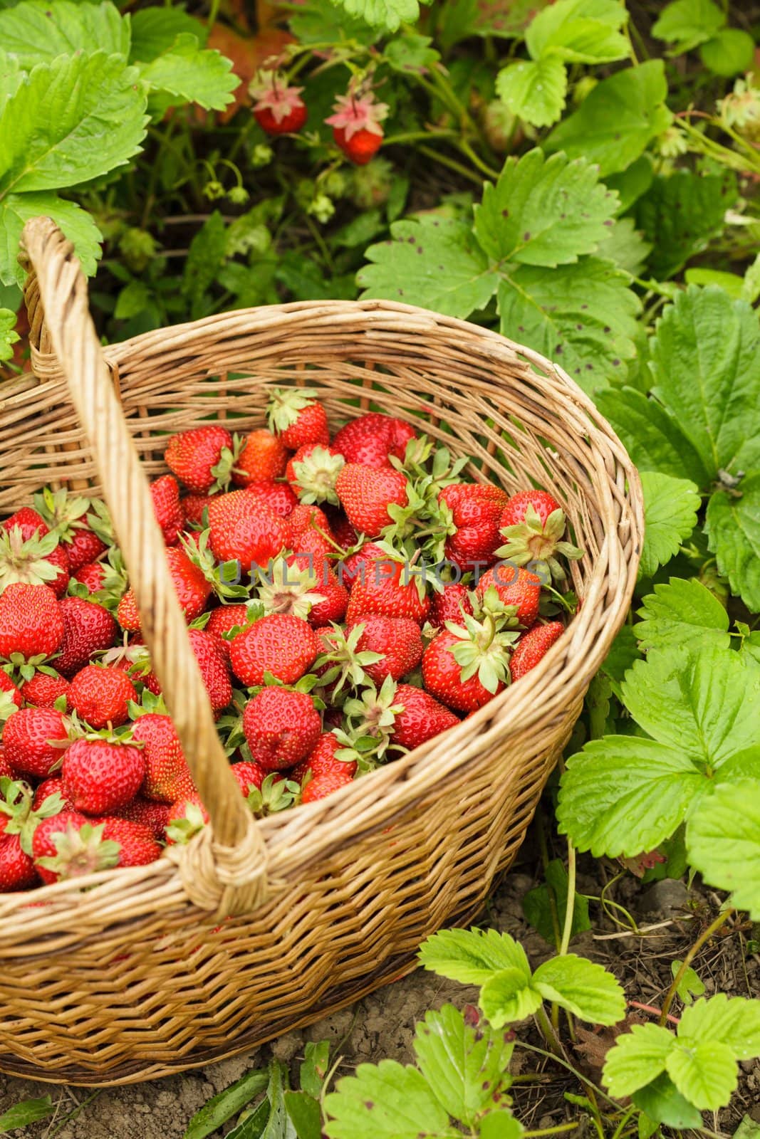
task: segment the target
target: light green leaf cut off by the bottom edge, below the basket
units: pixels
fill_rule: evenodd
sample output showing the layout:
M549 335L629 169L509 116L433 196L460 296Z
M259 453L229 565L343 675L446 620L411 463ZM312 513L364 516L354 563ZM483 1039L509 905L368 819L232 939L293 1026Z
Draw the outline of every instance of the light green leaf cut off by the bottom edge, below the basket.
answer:
M338 1080L325 1097L329 1139L456 1139L461 1132L449 1124L425 1077L395 1060L360 1064L357 1074Z

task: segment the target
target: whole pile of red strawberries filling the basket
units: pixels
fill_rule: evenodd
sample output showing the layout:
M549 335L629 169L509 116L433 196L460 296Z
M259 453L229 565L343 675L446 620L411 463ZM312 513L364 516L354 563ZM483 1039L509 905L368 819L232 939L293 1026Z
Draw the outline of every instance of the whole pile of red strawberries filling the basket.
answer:
M330 440L307 388L269 428L169 439L152 486L231 763L262 816L425 744L534 667L572 609L564 515L465 482L401 419ZM553 585L551 582L555 582ZM0 890L157 859L207 822L103 502L0 526Z

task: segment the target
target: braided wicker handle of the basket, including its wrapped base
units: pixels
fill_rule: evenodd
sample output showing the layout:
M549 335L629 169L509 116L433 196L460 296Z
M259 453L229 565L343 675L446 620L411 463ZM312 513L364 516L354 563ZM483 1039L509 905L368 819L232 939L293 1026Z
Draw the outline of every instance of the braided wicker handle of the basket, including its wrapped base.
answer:
M245 912L267 896L265 847L216 734L148 482L90 317L87 281L72 244L49 218L26 223L23 245L35 346L55 350L92 448L153 667L211 819L194 842L170 853L195 904L220 916Z

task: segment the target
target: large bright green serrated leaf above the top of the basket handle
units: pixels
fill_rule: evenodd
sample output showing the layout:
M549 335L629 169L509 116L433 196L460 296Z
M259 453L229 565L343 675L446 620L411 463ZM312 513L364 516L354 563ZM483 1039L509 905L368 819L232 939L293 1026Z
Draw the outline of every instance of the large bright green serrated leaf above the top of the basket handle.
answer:
M84 182L121 166L145 136L145 96L119 56L38 64L0 116L0 197Z

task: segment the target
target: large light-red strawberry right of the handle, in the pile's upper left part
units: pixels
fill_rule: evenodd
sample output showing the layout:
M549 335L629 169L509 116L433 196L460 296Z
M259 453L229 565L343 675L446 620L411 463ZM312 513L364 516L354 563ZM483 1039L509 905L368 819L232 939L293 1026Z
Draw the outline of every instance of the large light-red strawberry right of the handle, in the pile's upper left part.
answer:
M209 507L209 544L220 562L239 562L244 572L267 566L289 544L287 518L256 501L247 491L221 494Z

